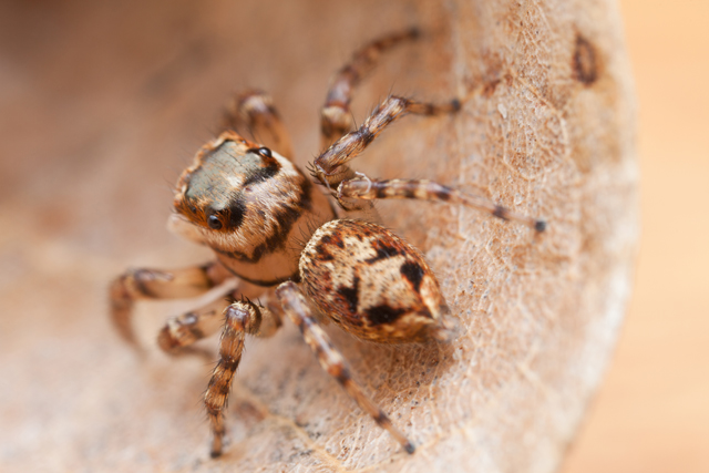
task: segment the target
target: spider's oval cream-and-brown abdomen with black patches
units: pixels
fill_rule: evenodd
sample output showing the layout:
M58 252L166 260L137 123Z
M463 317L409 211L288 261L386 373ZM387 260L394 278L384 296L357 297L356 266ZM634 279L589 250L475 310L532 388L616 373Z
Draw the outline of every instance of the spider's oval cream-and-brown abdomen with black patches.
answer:
M451 336L448 306L421 255L379 225L331 220L300 257L302 286L348 332L405 343Z

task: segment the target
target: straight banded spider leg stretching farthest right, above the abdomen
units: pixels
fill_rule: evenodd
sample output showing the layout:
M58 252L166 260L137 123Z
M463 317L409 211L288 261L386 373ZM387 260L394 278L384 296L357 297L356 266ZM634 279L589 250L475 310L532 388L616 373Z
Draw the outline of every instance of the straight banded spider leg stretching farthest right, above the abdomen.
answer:
M439 200L449 204L462 204L485 212L503 220L513 220L526 225L536 232L546 229L546 222L517 214L506 207L476 195L464 194L451 187L424 179L377 181L354 178L343 181L338 187L338 198L415 198Z

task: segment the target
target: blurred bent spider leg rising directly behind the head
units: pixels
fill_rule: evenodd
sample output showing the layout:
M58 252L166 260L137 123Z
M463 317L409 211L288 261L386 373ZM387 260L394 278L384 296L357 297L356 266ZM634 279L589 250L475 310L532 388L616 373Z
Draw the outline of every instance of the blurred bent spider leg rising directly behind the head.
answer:
M250 91L238 95L227 107L224 128L245 127L259 144L281 156L292 158L290 136L274 107L270 95Z

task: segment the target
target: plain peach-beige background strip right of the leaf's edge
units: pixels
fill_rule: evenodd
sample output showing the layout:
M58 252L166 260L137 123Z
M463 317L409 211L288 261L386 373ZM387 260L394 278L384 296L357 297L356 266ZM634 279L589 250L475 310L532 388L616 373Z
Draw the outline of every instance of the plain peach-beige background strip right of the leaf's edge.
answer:
M709 2L620 2L639 102L637 286L564 473L709 471Z

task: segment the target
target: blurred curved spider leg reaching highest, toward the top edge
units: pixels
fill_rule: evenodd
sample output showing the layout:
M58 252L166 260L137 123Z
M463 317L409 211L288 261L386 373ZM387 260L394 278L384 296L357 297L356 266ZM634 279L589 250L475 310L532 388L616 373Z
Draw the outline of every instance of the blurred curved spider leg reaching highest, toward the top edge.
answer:
M377 65L381 53L403 41L417 38L419 38L419 30L412 28L372 41L357 50L350 62L337 72L328 90L325 105L320 110L320 150L328 148L354 126L350 111L352 90Z

